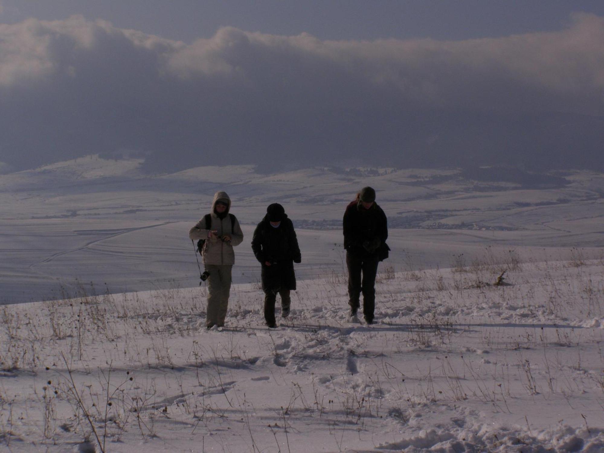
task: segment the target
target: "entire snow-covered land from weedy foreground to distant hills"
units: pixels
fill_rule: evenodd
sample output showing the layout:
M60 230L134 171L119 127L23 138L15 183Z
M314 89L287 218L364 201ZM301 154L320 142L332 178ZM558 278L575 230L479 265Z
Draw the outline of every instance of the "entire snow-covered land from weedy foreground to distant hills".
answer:
M0 451L604 451L602 175L139 164L0 176ZM347 320L338 224L368 184L393 248L372 326ZM219 188L250 240L270 202L297 224L276 330L248 240L227 326L198 327L186 232Z

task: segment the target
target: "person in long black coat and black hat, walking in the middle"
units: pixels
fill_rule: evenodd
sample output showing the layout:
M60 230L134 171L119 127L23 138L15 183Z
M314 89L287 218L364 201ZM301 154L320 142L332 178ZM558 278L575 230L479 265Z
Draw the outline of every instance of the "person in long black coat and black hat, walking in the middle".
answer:
M275 328L277 294L281 296L281 316L287 318L291 305L289 293L296 289L294 263L302 261L294 224L280 204L266 208L266 216L254 230L252 250L262 265L266 325Z

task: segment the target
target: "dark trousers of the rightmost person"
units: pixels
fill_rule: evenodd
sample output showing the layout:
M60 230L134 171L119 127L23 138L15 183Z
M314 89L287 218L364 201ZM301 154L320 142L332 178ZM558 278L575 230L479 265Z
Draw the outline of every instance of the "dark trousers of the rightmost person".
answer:
M348 267L348 295L349 305L352 309L359 308L359 298L363 294L363 315L365 320L373 321L373 311L376 303L377 257L361 258L346 253L346 266Z

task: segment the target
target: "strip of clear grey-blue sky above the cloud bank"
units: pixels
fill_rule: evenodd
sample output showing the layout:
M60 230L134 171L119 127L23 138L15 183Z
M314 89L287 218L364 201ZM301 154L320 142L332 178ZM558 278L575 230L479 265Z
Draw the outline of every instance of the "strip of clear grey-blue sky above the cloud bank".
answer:
M2 22L72 14L190 43L220 27L319 39L469 39L555 31L600 0L0 0Z

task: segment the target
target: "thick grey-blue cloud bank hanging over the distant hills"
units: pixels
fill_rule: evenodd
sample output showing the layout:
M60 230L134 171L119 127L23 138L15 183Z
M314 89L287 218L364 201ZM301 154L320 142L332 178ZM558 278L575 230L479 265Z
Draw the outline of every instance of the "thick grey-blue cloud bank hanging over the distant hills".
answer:
M81 16L0 25L0 161L604 169L604 18L498 39L191 44Z

